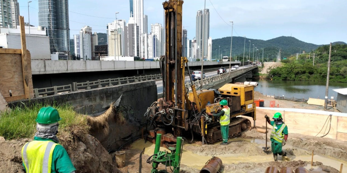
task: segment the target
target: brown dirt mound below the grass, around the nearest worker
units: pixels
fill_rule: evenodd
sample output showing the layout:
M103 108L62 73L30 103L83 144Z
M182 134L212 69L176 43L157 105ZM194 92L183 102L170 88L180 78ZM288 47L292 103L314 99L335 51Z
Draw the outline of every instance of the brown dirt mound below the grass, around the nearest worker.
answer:
M23 145L31 140L5 140L3 137L0 137L0 170L2 172L13 173L24 171L20 152ZM77 169L76 173L95 172L96 170L102 173L120 172L112 164L111 155L91 135L86 135L85 140L78 141L75 147L64 147L67 148L71 161Z

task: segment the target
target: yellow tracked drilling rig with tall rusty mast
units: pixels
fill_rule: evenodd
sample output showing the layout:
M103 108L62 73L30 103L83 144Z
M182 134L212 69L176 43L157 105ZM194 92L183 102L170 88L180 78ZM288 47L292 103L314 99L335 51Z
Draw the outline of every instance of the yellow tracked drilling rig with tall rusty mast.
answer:
M160 57L163 98L152 103L144 115L147 126L153 128L149 134L146 130L145 138L155 143L156 134L161 134L160 145L167 148L176 146L176 137L190 134L193 138L193 133L201 135L203 143L222 140L219 119L207 115L219 110L222 99L228 101L231 109L229 137L251 128L251 121L240 115L256 120L253 85L228 83L218 90L196 91L187 58L182 57L182 6L183 0L163 2L166 40L165 54ZM185 87L186 68L191 90Z

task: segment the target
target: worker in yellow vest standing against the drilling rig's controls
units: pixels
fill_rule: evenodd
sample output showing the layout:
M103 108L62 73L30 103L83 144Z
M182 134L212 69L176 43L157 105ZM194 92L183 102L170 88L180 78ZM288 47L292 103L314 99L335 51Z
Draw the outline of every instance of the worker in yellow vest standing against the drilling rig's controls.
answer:
M220 143L221 145L228 145L228 138L229 138L229 124L230 124L230 108L228 106L227 100L221 100L219 102L221 107L223 108L219 113L212 114L208 113L210 116L219 117L219 123L220 123L220 131L222 133L223 142Z

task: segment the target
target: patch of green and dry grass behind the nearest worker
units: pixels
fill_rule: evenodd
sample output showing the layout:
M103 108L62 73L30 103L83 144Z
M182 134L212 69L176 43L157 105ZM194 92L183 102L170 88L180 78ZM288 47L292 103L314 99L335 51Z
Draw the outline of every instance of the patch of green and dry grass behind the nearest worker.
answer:
M18 138L32 138L36 132L36 116L42 107L36 104L32 107L22 106L12 109L10 112L0 114L0 136L6 140ZM59 121L59 138L68 137L69 134L88 130L86 117L77 114L70 105L53 106L59 112L62 120ZM82 129L82 130L81 130Z

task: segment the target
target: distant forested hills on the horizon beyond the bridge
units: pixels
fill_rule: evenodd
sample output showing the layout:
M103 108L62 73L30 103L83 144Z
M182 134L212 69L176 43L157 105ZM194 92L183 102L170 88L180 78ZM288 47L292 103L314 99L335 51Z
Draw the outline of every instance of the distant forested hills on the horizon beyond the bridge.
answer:
M302 53L310 52L312 50L315 50L319 46L322 45L315 45L312 43L306 43L301 40L296 39L295 37L286 37L281 36L269 40L259 40L259 39L250 39L246 38L246 45L245 45L245 57L249 55L249 42L248 40L251 40L251 60L253 58L253 44L259 49L260 57L262 56L262 49L264 48L264 61L267 57L271 59L272 57L276 57L276 54L278 52L277 49L282 49L282 57L287 57L292 54L296 53ZM212 58L216 58L216 54L218 56L219 52L219 46L220 46L220 54L222 56L229 56L230 55L230 41L231 37L224 37L224 38L218 38L212 40ZM243 57L244 52L244 37L232 37L232 56L233 57ZM344 42L342 42L344 43ZM341 44L341 43L339 43ZM217 51L216 51L217 50ZM256 49L254 48L254 56L255 56Z

